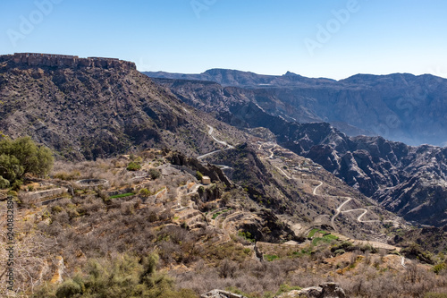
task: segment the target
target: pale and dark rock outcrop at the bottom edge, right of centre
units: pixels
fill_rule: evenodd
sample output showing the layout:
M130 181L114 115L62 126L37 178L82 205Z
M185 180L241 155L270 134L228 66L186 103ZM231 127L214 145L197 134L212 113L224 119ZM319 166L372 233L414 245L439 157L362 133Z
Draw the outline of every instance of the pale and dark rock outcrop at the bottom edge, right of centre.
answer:
M301 290L293 290L288 293L276 296L276 298L346 298L342 287L337 283L324 283L319 286L311 286Z

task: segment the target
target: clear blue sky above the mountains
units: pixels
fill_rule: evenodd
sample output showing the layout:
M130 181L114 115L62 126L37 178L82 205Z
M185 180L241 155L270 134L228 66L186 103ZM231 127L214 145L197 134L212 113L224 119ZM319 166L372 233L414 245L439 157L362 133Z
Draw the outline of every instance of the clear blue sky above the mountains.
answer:
M110 56L140 71L447 77L445 0L2 0L0 54Z

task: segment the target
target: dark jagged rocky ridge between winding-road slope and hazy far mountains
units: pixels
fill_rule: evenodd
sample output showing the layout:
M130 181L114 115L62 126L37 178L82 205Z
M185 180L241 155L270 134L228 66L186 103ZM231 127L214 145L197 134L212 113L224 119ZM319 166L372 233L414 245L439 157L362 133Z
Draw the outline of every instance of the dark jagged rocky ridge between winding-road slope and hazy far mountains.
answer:
M216 118L226 123L267 128L278 144L311 158L408 220L435 226L447 223L445 149L411 147L382 137L348 137L328 123L290 122L253 102L254 90L200 81L157 82L184 102L215 111Z

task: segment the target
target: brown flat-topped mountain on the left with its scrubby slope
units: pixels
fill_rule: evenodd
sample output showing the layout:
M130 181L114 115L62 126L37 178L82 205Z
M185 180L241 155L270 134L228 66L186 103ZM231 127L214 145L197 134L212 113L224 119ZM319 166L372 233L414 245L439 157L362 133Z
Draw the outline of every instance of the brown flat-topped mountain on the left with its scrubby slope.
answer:
M223 123L182 104L134 64L45 56L16 62L15 57L3 56L0 62L4 134L30 135L72 159L154 146L197 156L219 146L207 134L207 123L216 130ZM223 131L238 138L228 125Z

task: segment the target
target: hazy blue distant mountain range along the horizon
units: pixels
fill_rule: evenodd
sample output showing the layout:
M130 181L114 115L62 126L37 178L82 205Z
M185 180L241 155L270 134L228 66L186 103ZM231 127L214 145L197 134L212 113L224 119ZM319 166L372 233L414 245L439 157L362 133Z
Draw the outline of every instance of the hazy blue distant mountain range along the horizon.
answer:
M408 73L358 74L342 81L214 69L201 74L145 72L150 77L214 81L272 115L328 122L349 135L381 135L410 145L442 145L447 140L447 80Z

